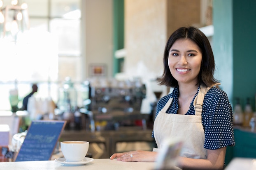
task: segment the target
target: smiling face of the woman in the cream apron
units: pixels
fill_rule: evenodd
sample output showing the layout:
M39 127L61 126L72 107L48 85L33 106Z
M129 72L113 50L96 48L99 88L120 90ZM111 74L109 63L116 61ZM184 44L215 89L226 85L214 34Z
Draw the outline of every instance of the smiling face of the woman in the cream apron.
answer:
M170 48L168 66L178 84L197 84L202 52L190 39L177 39Z

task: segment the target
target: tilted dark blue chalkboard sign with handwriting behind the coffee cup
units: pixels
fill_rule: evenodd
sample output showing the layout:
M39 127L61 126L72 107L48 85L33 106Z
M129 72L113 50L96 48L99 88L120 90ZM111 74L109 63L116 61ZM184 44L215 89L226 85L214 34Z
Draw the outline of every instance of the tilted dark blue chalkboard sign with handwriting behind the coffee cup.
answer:
M15 161L50 160L65 124L65 121L32 121Z

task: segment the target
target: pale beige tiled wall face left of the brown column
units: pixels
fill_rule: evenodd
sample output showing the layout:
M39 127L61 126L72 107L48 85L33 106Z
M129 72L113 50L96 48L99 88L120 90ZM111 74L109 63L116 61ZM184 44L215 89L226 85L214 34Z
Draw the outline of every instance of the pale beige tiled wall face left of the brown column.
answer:
M161 75L166 29L166 0L125 1L124 69L129 77Z

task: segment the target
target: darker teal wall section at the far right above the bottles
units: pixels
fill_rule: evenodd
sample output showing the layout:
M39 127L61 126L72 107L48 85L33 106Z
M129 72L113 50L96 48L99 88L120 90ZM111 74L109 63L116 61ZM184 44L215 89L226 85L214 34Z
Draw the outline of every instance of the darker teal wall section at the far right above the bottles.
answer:
M234 97L243 104L256 94L256 0L233 0Z

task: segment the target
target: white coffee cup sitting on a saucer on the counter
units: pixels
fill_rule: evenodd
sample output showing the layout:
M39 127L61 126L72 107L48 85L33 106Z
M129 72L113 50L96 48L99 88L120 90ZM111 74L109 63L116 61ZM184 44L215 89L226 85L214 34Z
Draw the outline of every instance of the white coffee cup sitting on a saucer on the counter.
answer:
M85 141L64 141L61 142L61 151L70 162L83 161L89 148L89 142Z

